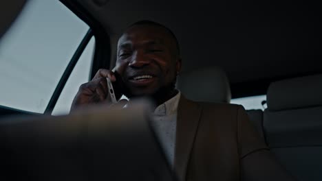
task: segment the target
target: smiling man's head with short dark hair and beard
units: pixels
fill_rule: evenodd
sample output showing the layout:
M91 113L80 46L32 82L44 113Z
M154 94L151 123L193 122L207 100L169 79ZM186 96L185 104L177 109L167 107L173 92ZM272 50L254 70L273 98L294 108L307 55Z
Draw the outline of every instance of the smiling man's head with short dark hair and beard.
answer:
M135 25L118 40L116 71L127 97L168 94L180 66L175 41L163 27Z

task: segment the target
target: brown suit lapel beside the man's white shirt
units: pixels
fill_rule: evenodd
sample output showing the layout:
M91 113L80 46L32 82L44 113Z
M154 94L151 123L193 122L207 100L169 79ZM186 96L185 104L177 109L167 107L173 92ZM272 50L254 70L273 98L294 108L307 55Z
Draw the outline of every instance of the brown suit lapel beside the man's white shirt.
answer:
M181 95L178 105L177 131L175 136L174 169L180 180L185 180L186 168L193 147L201 107Z

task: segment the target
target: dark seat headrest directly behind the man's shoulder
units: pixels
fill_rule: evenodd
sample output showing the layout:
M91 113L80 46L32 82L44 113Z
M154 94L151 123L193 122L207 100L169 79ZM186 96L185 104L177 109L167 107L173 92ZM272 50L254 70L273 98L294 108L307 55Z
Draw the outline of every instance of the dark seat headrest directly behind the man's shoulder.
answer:
M177 88L193 101L229 103L231 98L228 77L219 67L180 73Z

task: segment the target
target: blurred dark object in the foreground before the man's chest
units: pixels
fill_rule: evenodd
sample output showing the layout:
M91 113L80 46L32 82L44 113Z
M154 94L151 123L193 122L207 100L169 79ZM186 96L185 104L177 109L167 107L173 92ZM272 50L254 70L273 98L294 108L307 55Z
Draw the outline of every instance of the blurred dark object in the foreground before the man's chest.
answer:
M149 128L149 101L67 116L1 120L6 180L173 180ZM3 178L3 177L2 177Z

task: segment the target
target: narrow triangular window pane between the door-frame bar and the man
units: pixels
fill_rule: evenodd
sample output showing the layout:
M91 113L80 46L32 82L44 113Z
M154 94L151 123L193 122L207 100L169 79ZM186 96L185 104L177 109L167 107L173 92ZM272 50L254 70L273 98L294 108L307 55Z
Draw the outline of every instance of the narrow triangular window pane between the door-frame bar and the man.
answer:
M92 60L94 57L94 45L95 39L93 36L70 74L54 110L52 111L53 115L68 114L79 86L89 81L89 73L92 68Z

